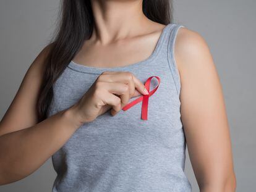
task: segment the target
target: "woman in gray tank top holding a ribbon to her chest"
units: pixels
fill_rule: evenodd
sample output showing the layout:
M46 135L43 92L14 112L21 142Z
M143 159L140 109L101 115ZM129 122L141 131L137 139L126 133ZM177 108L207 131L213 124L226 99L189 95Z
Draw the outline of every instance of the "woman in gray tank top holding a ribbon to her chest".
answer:
M191 191L187 144L200 191L235 191L213 59L202 36L171 23L170 8L63 1L57 35L1 120L2 185L52 157L53 191Z

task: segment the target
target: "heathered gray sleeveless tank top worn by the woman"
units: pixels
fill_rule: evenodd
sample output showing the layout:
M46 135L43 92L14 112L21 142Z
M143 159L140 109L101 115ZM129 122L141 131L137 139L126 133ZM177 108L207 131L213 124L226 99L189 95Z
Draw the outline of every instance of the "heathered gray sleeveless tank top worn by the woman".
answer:
M51 157L57 173L53 192L192 190L184 173L186 138L174 60L174 42L181 27L166 25L150 57L134 64L99 68L70 61L54 83L48 117L75 104L105 70L132 72L142 83L158 76L161 83L148 100L148 120L141 119L139 102L114 116L109 110L74 132ZM157 85L152 78L150 91Z

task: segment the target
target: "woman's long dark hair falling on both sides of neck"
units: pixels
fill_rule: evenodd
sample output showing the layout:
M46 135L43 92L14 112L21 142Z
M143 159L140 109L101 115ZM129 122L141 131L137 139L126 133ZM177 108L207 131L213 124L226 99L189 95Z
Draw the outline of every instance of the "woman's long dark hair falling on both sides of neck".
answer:
M143 13L148 19L164 25L173 22L171 0L143 0ZM45 59L45 71L36 105L38 120L48 117L53 99L53 84L93 31L90 0L62 0L58 27L54 31Z

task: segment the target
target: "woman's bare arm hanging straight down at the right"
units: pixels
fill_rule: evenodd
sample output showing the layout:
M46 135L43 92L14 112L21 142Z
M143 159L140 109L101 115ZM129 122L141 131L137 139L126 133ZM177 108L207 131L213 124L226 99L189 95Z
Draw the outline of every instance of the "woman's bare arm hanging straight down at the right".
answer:
M205 40L181 28L175 58L181 76L181 119L198 185L226 182L233 173L222 87Z

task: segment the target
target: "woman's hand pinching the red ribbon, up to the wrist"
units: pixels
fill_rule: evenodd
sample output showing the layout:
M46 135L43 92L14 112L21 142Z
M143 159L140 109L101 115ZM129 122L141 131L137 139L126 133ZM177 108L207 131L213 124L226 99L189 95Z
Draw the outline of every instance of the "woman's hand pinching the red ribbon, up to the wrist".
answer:
M137 89L137 90L135 90ZM92 122L96 117L111 109L116 115L129 99L148 94L143 83L130 72L103 72L83 97L70 107L74 109L79 124Z

